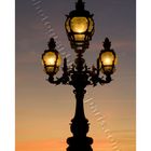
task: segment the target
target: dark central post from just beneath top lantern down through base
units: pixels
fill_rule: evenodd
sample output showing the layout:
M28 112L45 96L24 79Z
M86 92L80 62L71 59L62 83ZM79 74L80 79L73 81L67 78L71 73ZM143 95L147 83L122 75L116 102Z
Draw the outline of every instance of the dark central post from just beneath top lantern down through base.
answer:
M88 120L84 114L84 94L86 91L84 90L87 85L87 74L83 71L84 59L82 55L76 59L77 71L72 74L71 84L74 87L76 95L76 113L74 118L71 120L70 129L72 133L72 137L67 139L67 143L69 147L67 151L93 151L91 145L93 143L93 139L91 137L86 137L88 133Z

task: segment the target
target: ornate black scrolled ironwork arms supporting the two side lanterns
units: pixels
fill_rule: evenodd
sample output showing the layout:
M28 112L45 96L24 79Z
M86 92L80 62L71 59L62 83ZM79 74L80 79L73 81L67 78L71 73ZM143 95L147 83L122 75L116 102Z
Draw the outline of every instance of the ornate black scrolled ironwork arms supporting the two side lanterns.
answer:
M54 39L51 39L50 43L52 43L52 45L55 45ZM109 44L111 45L111 42L109 41L108 38L106 38L104 42L105 50L100 51L100 55L107 49L108 49L108 52L109 51L113 52L113 50L110 50L110 46L107 46ZM42 55L42 59L45 53L50 51L52 51L52 49L46 50L44 52L44 54ZM53 49L53 52L55 52L56 54L58 53L55 50L55 47ZM45 65L45 68L46 68L46 65ZM114 66L112 67L112 69L113 70L115 69ZM78 53L78 56L74 59L74 63L70 67L67 66L67 59L64 58L63 76L60 78L55 78L54 74L52 74L51 72L47 72L47 74L49 74L50 83L53 83L56 85L58 84L72 85L74 88L79 88L79 87L85 88L87 85L96 86L98 83L102 85L102 84L111 82L111 73L113 73L113 71L106 74L106 79L105 79L104 76L99 77L100 70L102 70L102 68L100 67L99 58L97 58L96 67L92 66L92 68L88 68L87 65L85 64L85 59L83 58L83 55Z

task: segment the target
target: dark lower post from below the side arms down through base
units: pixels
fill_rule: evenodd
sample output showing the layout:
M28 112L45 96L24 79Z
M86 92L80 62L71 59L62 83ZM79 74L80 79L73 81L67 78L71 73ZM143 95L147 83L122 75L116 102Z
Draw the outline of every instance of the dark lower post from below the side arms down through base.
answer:
M69 147L67 151L93 151L91 145L93 139L86 137L88 132L88 120L84 115L83 98L86 91L74 90L77 99L76 114L71 120L70 129L73 134L72 137L67 139Z

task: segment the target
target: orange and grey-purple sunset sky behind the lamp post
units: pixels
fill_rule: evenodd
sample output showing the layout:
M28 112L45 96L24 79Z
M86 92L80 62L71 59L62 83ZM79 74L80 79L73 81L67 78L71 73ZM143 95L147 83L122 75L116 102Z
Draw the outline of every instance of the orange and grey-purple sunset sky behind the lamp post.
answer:
M47 20L73 60L64 23L74 9L71 0L43 0L40 5ZM106 37L118 54L113 81L105 86L87 87L85 114L90 120L88 136L94 151L114 150L93 113L94 102L104 116L106 129L118 141L121 151L135 151L136 94L136 2L135 0L85 0L85 9L94 14L95 35L85 52L88 65L96 63ZM72 87L51 85L45 79L41 54L49 41L47 30L32 0L16 0L16 151L65 151L71 136L69 123L74 113Z

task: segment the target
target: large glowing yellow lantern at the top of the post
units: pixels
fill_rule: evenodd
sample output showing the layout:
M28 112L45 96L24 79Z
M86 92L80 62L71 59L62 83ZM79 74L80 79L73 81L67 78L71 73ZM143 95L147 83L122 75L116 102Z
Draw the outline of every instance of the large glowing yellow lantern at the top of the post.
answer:
M94 20L93 14L84 10L82 0L79 0L76 4L76 10L67 15L65 28L71 47L76 52L83 53L88 49L90 41L94 35Z

